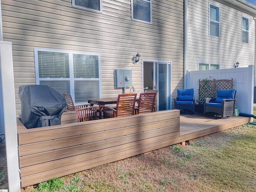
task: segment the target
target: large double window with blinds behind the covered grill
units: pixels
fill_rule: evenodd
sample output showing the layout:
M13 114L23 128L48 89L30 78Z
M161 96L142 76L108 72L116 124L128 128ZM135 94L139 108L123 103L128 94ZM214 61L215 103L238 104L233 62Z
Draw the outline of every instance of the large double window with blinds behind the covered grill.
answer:
M77 104L101 97L100 55L35 48L36 84L69 93Z

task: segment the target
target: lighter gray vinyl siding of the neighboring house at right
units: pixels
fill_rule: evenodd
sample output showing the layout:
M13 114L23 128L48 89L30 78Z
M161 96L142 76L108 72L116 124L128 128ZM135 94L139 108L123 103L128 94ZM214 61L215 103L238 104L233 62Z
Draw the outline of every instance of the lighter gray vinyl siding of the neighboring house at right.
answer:
M198 62L220 63L220 68L254 65L255 22L239 8L210 1L220 7L220 37L208 34L209 1L189 0L188 3L188 69L198 70ZM249 18L249 44L241 42L241 18Z

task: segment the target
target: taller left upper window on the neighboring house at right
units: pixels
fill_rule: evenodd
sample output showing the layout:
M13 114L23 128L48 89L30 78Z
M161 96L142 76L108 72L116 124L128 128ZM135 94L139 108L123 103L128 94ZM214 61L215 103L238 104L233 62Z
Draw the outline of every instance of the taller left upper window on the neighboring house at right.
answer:
M210 4L209 36L220 37L220 8Z

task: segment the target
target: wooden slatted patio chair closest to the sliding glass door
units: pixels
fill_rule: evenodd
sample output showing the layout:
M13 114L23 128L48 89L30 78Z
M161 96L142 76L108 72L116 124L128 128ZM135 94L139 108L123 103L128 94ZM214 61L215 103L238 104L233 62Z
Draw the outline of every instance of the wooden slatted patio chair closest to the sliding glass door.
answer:
M157 92L144 92L140 94L138 106L136 106L136 114L155 112Z

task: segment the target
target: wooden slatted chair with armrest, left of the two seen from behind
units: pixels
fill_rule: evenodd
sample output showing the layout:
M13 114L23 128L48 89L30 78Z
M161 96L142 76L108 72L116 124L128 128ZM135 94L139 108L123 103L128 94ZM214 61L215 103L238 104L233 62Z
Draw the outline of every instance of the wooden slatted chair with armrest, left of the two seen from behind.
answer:
M113 118L126 115L135 115L136 93L119 94L116 108L103 107L103 118Z

